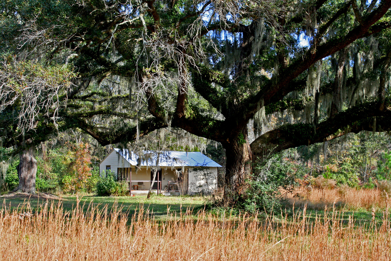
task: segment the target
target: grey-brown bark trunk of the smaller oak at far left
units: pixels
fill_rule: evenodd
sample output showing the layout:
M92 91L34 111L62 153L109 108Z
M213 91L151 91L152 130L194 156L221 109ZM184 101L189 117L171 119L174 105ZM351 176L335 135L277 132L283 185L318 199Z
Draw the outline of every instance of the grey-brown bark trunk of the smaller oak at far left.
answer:
M35 194L37 160L34 158L34 151L35 147L31 146L19 154L20 162L17 167L19 185L15 191Z

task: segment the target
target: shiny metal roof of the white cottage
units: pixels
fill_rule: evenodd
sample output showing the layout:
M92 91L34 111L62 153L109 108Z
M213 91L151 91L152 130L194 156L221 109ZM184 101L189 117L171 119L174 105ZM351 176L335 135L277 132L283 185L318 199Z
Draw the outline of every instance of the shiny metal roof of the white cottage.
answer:
M133 151L129 152L127 149L114 150L133 166L136 166L138 161L140 161L139 166L156 166L156 160L159 154L160 167L222 167L201 152L161 151L158 153L157 151L144 151L143 155L137 155Z

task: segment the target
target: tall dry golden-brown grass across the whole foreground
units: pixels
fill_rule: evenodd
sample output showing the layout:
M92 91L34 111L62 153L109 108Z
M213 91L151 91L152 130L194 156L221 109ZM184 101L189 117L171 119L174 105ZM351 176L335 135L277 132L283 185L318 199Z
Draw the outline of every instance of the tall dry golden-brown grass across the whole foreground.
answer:
M314 221L297 214L221 218L201 211L156 221L140 209L127 225L119 208L90 206L64 212L45 204L36 212L3 208L0 214L0 260L390 260L388 214L382 225L355 226L350 217L330 212Z

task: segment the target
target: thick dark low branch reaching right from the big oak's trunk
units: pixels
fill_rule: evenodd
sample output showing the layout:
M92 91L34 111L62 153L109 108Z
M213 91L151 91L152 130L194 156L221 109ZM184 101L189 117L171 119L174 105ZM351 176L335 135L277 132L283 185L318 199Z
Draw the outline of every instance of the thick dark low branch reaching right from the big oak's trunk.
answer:
M316 125L289 124L276 128L254 140L250 145L251 151L260 160L267 160L284 149L335 139L352 131L389 130L391 128L391 110L386 108L380 111L377 109L377 104L378 101L359 104ZM378 126L373 126L373 117L376 117Z

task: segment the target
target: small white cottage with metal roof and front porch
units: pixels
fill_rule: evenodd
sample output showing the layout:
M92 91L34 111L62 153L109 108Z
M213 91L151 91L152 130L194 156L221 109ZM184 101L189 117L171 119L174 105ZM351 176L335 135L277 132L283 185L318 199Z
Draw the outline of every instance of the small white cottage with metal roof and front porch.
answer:
M127 182L130 194L146 194L152 182L158 194L210 194L217 189L219 167L201 152L144 151L140 156L113 149L100 162L99 172L111 170L119 182Z

